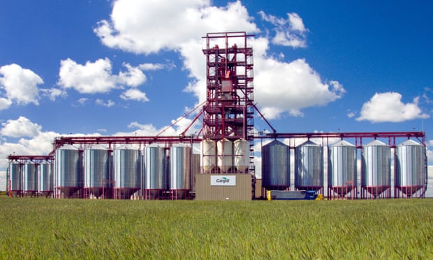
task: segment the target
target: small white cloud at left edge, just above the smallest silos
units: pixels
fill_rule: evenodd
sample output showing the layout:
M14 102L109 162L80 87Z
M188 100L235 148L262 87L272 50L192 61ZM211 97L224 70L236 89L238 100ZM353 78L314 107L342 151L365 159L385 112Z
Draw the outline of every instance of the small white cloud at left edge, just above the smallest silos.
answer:
M32 123L26 117L19 117L17 120L8 120L6 123L2 123L1 126L1 136L13 138L37 136L42 128L40 125Z

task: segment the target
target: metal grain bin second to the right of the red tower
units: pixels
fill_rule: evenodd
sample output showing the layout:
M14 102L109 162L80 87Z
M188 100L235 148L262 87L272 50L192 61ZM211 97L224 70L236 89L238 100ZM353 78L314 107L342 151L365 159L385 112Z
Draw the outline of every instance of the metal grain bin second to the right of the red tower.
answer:
M295 188L323 189L323 147L311 140L295 148Z

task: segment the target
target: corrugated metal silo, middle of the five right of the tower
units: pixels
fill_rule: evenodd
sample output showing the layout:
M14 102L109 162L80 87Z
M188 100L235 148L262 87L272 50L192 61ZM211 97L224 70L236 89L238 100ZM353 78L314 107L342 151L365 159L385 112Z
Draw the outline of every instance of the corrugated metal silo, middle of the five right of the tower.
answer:
M331 145L328 154L328 198L356 197L356 147L346 140ZM352 192L352 190L354 191Z

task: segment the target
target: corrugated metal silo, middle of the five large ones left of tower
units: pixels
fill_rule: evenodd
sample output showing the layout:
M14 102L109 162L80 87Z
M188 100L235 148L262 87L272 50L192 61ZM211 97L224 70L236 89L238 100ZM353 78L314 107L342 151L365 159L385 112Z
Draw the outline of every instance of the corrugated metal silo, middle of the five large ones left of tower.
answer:
M121 145L113 151L114 197L129 199L141 187L140 150Z

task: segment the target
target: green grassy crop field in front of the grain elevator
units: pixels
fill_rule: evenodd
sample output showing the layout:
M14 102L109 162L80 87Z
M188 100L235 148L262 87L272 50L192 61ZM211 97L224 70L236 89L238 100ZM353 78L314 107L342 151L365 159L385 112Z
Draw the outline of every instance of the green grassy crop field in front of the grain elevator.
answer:
M0 198L0 259L433 259L433 199Z

